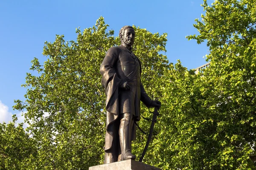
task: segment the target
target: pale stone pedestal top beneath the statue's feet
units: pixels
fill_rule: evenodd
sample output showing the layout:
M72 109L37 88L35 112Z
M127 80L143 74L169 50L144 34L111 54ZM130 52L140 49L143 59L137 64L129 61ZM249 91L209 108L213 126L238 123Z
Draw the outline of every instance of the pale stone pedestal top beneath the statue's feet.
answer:
M89 167L89 170L161 170L160 168L144 164L139 161L125 160L114 162L111 164L102 164L93 167Z

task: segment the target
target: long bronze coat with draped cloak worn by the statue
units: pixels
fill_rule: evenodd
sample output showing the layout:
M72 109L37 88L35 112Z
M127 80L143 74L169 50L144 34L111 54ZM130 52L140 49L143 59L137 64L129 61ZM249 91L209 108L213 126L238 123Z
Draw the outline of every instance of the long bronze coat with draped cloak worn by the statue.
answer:
M106 135L105 152L111 153L113 140L113 122L119 114L132 113L134 121L140 120L140 101L147 107L152 100L148 97L141 83L141 62L124 46L111 47L100 66L102 85L106 94ZM119 88L122 82L131 85L130 90ZM132 139L136 138L136 126L133 126Z

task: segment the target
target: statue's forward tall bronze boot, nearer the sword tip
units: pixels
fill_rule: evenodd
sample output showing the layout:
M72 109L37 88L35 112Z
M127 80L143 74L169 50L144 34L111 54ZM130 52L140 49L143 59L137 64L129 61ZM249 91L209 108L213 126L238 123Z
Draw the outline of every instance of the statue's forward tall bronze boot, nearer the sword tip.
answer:
M131 132L134 123L132 113L120 114L119 141L121 147L121 160L135 159L131 153Z

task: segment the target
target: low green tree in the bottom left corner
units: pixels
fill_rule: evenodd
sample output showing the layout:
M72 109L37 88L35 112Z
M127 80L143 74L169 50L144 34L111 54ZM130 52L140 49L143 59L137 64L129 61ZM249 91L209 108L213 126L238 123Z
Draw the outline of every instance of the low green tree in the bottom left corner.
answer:
M35 141L23 129L23 123L15 126L16 115L9 124L0 124L0 169L26 169L27 162L35 160L37 149Z

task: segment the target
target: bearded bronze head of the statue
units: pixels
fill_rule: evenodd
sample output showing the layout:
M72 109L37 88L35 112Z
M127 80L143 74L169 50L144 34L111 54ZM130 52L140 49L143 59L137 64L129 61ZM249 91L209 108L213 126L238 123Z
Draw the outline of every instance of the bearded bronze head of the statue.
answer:
M123 26L119 31L121 43L131 46L134 44L135 31L132 26Z

